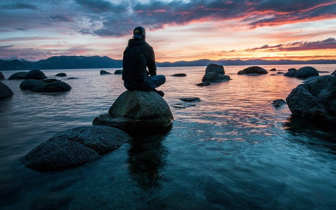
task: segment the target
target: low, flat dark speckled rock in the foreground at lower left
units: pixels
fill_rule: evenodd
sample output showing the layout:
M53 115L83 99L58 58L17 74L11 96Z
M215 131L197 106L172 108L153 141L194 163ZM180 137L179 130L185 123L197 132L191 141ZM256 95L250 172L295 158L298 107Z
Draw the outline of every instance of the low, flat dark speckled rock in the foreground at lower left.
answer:
M72 168L119 148L129 140L125 132L107 126L82 126L56 133L23 158L38 171Z

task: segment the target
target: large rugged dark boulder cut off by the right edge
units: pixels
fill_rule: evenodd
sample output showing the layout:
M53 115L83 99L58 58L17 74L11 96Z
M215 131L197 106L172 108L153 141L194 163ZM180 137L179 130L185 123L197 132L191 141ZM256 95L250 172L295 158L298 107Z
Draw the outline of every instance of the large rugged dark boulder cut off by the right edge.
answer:
M298 85L286 102L293 116L336 123L336 77L321 76Z

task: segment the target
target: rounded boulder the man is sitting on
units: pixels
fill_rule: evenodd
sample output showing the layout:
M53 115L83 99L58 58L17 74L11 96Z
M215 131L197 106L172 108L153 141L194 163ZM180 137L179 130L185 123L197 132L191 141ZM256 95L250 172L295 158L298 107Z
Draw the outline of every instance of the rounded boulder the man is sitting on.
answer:
M94 125L107 125L129 134L141 135L166 132L173 115L167 102L153 91L126 90L115 100L109 114L93 120Z

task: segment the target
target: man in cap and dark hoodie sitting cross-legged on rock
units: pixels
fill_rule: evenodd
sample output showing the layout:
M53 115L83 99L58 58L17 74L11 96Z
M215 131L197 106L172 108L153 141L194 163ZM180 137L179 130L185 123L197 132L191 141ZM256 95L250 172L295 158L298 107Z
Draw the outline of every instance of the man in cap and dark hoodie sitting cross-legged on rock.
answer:
M122 75L124 86L128 90L152 90L163 97L164 92L155 88L164 84L166 77L156 75L154 50L145 40L145 29L141 26L136 27L133 30L133 38L128 40L124 51Z

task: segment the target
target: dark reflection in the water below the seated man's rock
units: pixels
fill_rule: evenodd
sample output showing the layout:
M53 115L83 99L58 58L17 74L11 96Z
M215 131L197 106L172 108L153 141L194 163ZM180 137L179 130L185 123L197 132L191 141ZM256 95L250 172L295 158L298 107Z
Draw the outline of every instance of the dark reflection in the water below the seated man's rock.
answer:
M128 151L129 170L139 187L146 189L158 185L160 168L165 163L167 150L162 141L167 134L134 138Z

